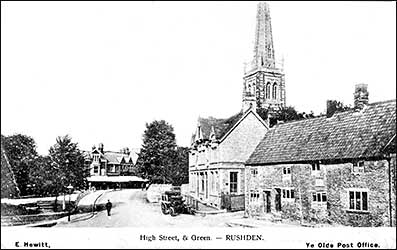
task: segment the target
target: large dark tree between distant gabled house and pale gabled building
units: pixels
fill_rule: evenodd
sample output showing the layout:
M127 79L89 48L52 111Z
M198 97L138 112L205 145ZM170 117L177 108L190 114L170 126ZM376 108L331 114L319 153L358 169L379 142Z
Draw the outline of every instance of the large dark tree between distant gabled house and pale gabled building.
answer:
M186 168L186 173L178 169L184 164L184 152L177 148L174 129L166 121L146 124L137 161L138 173L152 183L180 183L188 174Z

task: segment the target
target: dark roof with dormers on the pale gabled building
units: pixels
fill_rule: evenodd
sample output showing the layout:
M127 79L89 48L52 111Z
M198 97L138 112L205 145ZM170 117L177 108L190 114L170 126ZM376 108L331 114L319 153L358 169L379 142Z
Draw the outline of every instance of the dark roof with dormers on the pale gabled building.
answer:
M202 136L208 139L211 134L211 128L214 127L216 139L221 139L233 126L243 117L243 113L237 113L226 119L217 119L214 117L202 118L199 117L198 124L201 127ZM195 140L196 134L192 135L192 143Z

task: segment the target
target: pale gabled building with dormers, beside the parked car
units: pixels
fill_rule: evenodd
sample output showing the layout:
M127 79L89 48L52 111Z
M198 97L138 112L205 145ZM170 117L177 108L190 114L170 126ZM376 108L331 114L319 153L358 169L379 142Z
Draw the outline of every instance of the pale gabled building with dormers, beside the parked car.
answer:
M244 164L267 130L253 109L228 119L199 118L189 152L190 196L217 209L244 210Z

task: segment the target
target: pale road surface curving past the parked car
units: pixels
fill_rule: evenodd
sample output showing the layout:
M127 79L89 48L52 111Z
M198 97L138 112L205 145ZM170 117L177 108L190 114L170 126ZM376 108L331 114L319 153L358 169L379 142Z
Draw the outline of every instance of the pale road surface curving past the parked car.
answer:
M94 217L71 223L58 223L57 227L226 227L233 219L241 219L243 212L217 215L163 215L158 203L148 203L146 192L126 189L104 193L98 203L113 203L111 216L106 211Z

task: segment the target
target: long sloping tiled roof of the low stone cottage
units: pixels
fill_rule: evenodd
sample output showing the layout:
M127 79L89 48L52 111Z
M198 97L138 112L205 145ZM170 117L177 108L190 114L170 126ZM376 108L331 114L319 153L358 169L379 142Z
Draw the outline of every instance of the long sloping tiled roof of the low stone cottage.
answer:
M279 124L271 128L248 165L378 157L396 134L396 100L360 111ZM395 148L395 147L394 147Z

